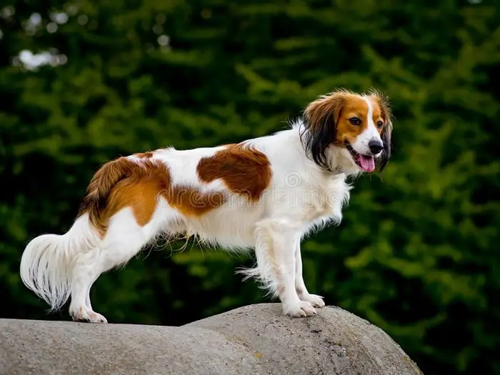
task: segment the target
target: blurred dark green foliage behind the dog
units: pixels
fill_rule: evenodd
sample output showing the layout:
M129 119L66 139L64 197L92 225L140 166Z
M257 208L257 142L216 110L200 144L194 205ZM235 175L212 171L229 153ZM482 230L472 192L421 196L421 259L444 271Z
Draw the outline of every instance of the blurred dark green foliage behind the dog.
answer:
M376 86L394 106L394 157L382 179L356 181L339 228L306 241L306 284L386 330L425 374L500 374L497 3L2 6L2 316L69 319L45 314L19 279L19 259L29 239L69 228L104 161L269 134L319 94ZM57 11L66 22L51 20ZM27 22L34 13L38 25ZM30 70L22 50L67 61ZM182 324L265 301L234 274L250 256L182 246L101 276L97 311L113 322Z

